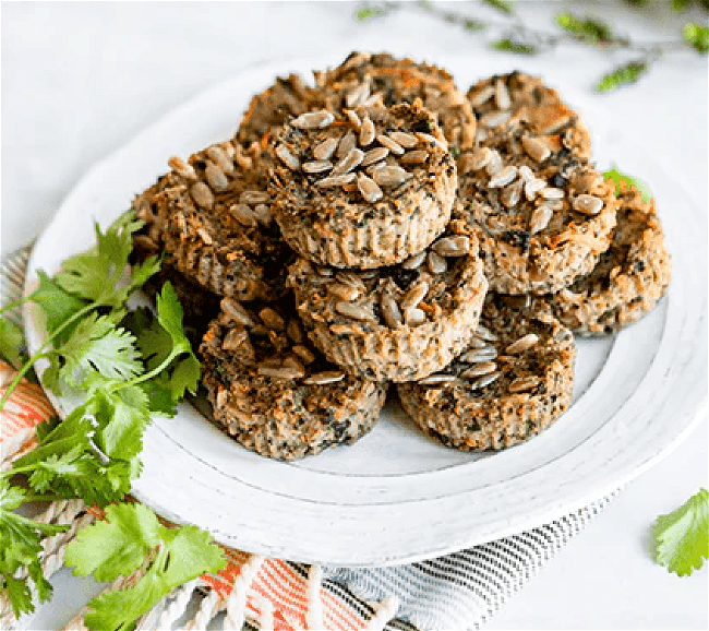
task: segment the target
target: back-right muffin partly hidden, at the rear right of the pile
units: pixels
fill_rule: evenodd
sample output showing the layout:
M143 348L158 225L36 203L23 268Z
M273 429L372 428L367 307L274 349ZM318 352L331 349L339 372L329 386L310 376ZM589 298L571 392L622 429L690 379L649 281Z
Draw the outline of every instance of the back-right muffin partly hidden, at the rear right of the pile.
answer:
M496 74L472 85L467 99L478 117L478 140L498 128L524 124L532 135L548 136L581 159L591 157L588 129L578 114L538 76Z

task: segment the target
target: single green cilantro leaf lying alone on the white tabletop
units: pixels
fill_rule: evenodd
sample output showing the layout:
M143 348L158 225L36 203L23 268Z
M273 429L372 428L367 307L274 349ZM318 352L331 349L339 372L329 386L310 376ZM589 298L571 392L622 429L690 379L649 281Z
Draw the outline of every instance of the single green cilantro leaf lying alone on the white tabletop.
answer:
M692 574L709 558L709 491L699 489L676 511L660 515L652 534L654 560L678 576Z

